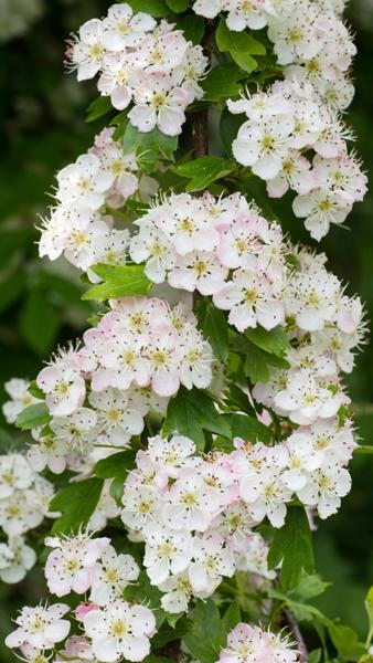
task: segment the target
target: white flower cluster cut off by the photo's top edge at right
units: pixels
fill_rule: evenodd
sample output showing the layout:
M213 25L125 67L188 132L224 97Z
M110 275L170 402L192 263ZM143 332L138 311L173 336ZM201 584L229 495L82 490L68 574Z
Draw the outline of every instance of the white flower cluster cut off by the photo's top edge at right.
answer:
M230 30L260 30L274 44L285 77L309 82L318 98L335 109L345 109L354 88L349 67L356 49L343 23L344 1L305 0L196 0L196 13L214 18L227 12Z

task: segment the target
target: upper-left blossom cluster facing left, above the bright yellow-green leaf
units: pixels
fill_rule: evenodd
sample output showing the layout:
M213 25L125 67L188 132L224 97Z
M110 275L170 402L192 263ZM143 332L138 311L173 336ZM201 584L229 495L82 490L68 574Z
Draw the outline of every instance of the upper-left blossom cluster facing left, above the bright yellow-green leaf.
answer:
M56 260L61 254L76 267L89 271L97 262L124 264L128 230L113 228L110 210L121 207L135 192L143 198L157 190L156 181L139 176L134 152L124 154L105 128L87 154L81 155L56 176L56 203L41 229L39 254Z

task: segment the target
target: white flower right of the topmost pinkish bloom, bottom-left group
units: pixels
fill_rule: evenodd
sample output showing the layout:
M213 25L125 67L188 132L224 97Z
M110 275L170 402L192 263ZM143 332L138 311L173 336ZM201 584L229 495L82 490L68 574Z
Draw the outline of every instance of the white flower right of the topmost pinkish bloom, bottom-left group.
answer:
M107 606L121 597L124 589L137 580L140 569L130 555L117 555L106 546L93 569L89 599L97 606Z

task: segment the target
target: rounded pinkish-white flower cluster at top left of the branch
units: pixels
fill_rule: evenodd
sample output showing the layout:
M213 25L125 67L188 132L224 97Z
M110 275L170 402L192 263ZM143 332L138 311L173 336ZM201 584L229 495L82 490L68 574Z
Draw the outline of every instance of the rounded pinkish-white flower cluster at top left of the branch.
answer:
M203 92L199 80L207 59L181 30L145 12L134 13L126 4L114 4L103 19L81 27L67 57L78 81L99 73L98 91L109 96L118 110L128 108L128 118L139 131L158 127L177 136L185 122L185 108Z

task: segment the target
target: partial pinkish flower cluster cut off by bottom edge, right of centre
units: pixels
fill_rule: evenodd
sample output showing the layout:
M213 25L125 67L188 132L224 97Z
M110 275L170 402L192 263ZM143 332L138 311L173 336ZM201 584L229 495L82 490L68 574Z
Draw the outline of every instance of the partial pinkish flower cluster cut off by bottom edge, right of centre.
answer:
M219 663L296 663L298 652L286 635L265 631L260 627L237 624L227 635L227 646Z

